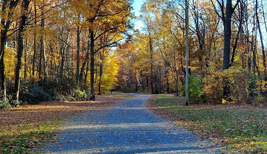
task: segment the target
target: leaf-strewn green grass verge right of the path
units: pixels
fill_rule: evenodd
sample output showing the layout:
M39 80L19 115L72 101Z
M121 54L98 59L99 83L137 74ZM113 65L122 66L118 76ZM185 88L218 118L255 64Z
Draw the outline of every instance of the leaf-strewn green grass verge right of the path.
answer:
M183 97L154 96L148 107L231 153L267 153L267 109L249 105L184 106Z

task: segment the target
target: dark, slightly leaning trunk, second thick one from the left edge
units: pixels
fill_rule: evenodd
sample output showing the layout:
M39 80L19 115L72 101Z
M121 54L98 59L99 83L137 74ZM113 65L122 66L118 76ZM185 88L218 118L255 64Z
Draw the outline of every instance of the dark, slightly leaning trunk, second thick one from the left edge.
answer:
M21 7L22 11L23 9L28 11L29 6L29 0L23 0ZM13 94L15 97L13 97L14 100L17 102L19 101L19 85L20 85L20 78L21 78L21 67L22 67L22 56L23 56L23 31L24 26L27 20L27 16L25 14L22 15L21 21L20 21L20 29L18 31L18 49L17 49L17 56L18 56L18 62L15 70L15 84L14 84L14 92Z

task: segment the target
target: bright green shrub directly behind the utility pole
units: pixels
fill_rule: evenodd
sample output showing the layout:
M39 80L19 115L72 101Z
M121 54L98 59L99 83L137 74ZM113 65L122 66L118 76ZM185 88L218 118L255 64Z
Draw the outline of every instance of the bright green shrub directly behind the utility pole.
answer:
M190 101L196 103L204 103L206 101L203 83L200 77L188 77L188 95ZM182 94L185 96L185 86L181 88Z

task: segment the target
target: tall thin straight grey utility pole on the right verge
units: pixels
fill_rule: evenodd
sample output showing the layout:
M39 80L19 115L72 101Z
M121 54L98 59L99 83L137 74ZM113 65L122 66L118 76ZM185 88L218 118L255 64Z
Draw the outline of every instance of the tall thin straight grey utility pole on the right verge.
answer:
M185 105L188 106L189 96L188 96L188 0L185 0L185 24L186 24L186 68L185 68Z

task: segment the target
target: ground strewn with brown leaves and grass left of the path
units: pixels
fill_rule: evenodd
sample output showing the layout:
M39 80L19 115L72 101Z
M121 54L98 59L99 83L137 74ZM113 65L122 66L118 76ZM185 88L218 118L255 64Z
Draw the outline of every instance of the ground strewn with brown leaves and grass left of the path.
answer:
M97 96L97 101L50 101L0 112L0 153L34 153L51 141L64 119L94 108L107 108L127 99L122 96Z

